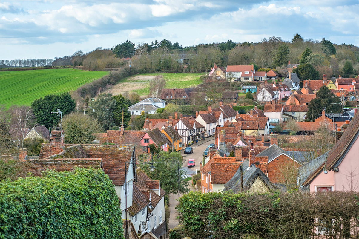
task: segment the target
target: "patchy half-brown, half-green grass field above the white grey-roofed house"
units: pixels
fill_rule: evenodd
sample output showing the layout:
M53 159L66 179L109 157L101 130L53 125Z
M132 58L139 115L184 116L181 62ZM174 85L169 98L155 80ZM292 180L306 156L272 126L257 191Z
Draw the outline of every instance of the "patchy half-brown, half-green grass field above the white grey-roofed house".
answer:
M111 87L109 92L113 95L121 94L126 91L136 92L141 96L148 95L150 93L149 82L157 75L162 75L163 79L166 81L165 89L172 89L173 87L194 87L202 83L200 77L203 74L162 73L134 75Z

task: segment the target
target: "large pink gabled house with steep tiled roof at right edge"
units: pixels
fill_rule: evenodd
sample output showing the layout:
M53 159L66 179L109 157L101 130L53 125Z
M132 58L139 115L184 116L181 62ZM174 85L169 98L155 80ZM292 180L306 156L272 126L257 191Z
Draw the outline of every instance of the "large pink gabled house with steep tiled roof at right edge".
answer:
M355 191L359 192L359 116L356 113L340 140L325 157L315 159L311 173L300 179L301 187L310 192ZM309 164L310 164L309 163ZM304 168L305 169L305 168Z

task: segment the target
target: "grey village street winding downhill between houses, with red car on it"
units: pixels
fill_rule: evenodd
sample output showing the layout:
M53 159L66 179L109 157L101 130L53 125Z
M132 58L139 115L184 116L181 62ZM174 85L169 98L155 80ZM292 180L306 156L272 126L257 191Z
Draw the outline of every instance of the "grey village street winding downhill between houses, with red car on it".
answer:
M214 144L215 138L211 137L206 140L198 141L198 145L192 145L193 147L193 153L192 154L183 154L183 150L181 151L181 155L183 156L182 161L182 168L187 172L188 177L196 174L196 169L200 169L200 163L203 160L203 152L208 147L209 144ZM188 159L195 159L195 167L188 168L187 162ZM195 189L192 187L192 184L190 184L190 190L195 191ZM177 216L177 210L176 205L178 204L178 194L169 195L169 207L171 210L171 214L169 216L168 221L168 230L175 228L178 226L178 220L176 219Z

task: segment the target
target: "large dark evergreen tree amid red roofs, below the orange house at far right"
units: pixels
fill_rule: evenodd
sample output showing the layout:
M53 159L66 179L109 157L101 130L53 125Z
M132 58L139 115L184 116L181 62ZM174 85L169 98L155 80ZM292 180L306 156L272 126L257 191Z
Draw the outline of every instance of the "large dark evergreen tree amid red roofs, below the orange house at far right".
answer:
M315 99L308 104L307 118L314 121L322 113L326 112L339 113L341 111L340 98L331 93L330 89L322 86L318 91Z

